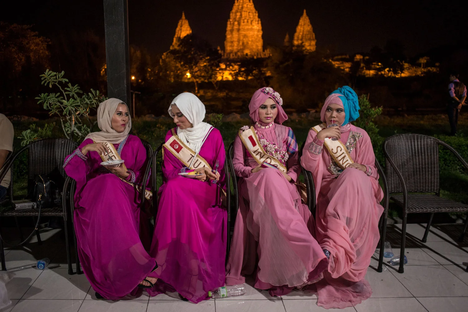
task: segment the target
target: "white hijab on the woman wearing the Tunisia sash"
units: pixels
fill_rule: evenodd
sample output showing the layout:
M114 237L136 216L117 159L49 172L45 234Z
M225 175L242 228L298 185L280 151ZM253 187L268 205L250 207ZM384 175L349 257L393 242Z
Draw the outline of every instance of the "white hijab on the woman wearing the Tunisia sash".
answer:
M172 118L174 118L172 104L176 104L183 116L187 117L190 123L193 124L192 128L177 128L177 136L192 150L199 152L203 139L212 127L211 124L203 122L203 119L205 119L205 105L198 99L197 95L190 92L181 93L172 100L169 106L168 112Z

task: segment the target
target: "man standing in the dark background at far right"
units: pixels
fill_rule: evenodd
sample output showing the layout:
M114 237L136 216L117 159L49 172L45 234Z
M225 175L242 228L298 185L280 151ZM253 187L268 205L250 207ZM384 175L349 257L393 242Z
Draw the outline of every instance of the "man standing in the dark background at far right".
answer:
M457 132L458 114L467 97L467 87L458 80L458 74L450 74L450 81L448 85L450 100L447 105L447 115L450 123L450 135L454 136Z

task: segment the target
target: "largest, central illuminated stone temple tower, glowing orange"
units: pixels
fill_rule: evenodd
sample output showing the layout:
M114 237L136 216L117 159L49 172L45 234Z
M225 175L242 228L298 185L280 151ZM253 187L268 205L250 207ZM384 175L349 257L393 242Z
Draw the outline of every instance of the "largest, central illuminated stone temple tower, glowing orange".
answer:
M262 23L252 0L235 0L226 28L225 58L263 58Z

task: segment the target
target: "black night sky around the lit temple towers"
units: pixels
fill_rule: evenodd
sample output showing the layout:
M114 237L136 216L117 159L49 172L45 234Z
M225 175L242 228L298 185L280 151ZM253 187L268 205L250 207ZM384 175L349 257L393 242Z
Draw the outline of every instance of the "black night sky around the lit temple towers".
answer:
M8 1L0 21L34 24L42 36L57 29L93 29L104 35L101 0ZM192 31L224 50L234 0L129 0L130 43L151 53L167 51L185 11ZM446 44L466 44L468 17L461 1L254 0L262 21L263 45L292 38L304 9L317 47L333 53L369 51L388 39L401 40L409 56Z

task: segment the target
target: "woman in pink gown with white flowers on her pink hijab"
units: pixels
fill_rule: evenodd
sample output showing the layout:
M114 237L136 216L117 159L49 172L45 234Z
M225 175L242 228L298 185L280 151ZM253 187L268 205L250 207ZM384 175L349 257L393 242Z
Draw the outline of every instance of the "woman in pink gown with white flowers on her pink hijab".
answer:
M234 140L240 198L226 275L227 285L240 284L256 269L255 287L271 296L314 283L327 264L312 236L314 218L295 184L298 145L291 128L281 125L287 119L282 104L270 87L257 90L249 104L254 125L242 127ZM257 143L253 152L245 142ZM255 152L258 145L261 153ZM263 160L274 167L263 168Z

